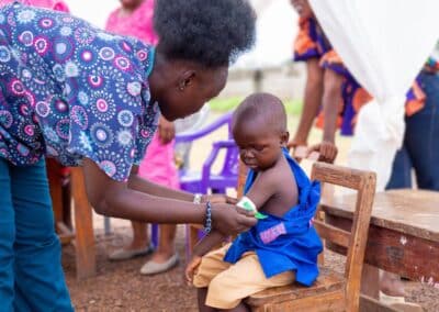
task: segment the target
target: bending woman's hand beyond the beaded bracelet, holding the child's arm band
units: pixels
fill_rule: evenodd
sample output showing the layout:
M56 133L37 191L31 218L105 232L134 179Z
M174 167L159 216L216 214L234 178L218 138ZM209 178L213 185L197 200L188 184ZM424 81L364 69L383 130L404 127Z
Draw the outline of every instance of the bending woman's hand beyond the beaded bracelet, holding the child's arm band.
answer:
M212 204L213 227L224 235L236 235L249 230L258 220L254 211L247 211L227 203Z

